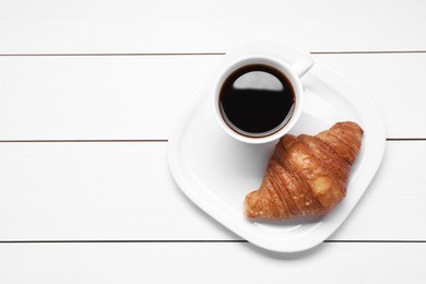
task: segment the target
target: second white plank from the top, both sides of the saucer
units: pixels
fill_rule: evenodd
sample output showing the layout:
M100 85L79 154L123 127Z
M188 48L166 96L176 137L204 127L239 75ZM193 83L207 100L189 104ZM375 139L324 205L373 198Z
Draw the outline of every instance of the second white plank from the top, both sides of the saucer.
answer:
M426 54L316 57L371 95L388 137L426 138ZM0 140L167 139L221 58L0 57Z

